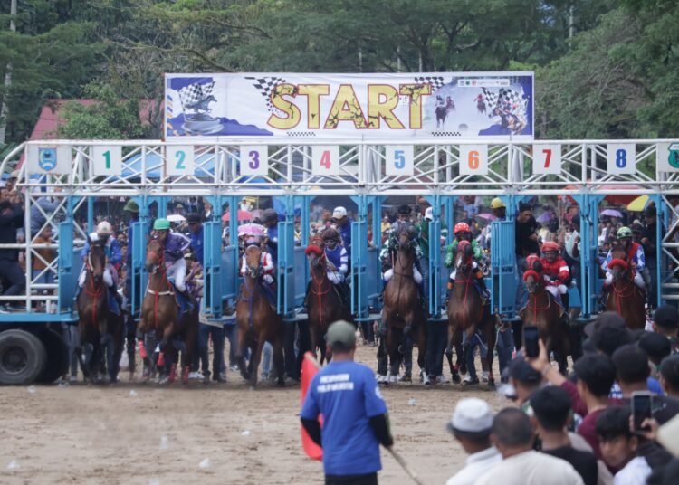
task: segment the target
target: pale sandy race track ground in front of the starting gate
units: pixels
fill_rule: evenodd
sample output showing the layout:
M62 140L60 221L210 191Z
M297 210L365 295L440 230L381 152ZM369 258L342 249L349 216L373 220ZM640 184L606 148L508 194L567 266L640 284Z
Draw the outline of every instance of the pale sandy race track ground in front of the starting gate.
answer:
M375 353L359 347L357 360L375 367ZM225 385L187 387L121 377L118 385L0 389L0 483L322 483L320 462L301 449L299 385L251 390L233 372ZM427 484L445 483L464 464L445 428L458 399L509 404L485 385L392 385L383 395L395 448ZM380 483L411 483L384 450L382 466Z

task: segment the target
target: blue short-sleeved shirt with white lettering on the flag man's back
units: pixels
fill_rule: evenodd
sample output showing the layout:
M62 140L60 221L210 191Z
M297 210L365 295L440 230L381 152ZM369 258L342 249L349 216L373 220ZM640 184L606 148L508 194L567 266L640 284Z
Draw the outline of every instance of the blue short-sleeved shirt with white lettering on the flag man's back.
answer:
M323 414L320 433L326 475L365 475L382 468L379 442L369 418L387 413L368 366L330 362L311 380L301 417Z

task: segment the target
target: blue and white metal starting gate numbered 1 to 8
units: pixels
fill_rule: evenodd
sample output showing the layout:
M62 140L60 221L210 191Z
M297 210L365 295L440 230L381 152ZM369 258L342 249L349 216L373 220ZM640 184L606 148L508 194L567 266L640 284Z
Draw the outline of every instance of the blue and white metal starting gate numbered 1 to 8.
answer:
M579 204L580 274L577 282L584 317L596 311L598 279L599 204L620 195L648 195L657 208L657 240L653 281L657 301L679 300L679 268L674 229L679 222L679 144L673 140L627 141L491 141L484 145L443 139L399 142L412 145L412 163L387 158L393 149L368 143L304 141L303 144L258 138L259 160L266 175L244 175L241 145L225 141L177 145L163 141L30 141L14 149L0 166L5 178L18 168L17 189L24 197L24 238L5 248L24 253L26 289L19 296L21 312L0 315L0 321L72 321L73 296L81 271L80 249L98 214L110 205L132 199L139 204L133 233L132 306L139 309L146 274L144 260L149 227L155 216L167 214L173 199L202 197L209 203L204 223L206 318L222 319L233 302L238 276L238 203L244 196L271 196L281 213L278 226L278 309L288 319L300 311L309 268L303 246L310 231L310 205L319 196L349 196L357 205L352 223L350 254L351 307L358 319L374 319L382 290L378 253L382 205L388 197L425 196L433 208L429 223L426 290L428 310L441 318L448 271L441 245L444 226L454 225L454 202L463 195L502 197L507 220L494 222L491 232L493 309L515 311L519 280L514 255L514 214L518 204L533 196L570 197ZM253 141L248 140L248 149ZM320 157L319 152L327 153ZM409 153L409 151L408 151ZM400 153L403 156L403 152ZM332 157L337 157L333 159ZM180 160L178 163L176 161ZM315 160L322 160L317 166ZM402 162L402 160L400 160ZM388 169L387 169L388 166ZM327 207L331 209L331 207ZM223 214L228 214L224 231ZM296 216L301 234L295 234ZM37 239L53 228L51 241ZM368 243L368 229L372 240ZM661 231L664 231L662 232ZM44 235L44 234L43 234ZM447 236L450 243L452 233ZM296 243L296 240L298 243ZM54 257L46 256L52 250ZM34 262L46 268L31 271ZM48 275L48 278L44 276Z

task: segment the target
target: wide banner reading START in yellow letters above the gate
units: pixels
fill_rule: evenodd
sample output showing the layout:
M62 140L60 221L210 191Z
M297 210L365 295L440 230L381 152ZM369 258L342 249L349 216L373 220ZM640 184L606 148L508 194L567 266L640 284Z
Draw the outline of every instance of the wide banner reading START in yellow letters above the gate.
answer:
M169 139L533 138L532 72L166 74Z

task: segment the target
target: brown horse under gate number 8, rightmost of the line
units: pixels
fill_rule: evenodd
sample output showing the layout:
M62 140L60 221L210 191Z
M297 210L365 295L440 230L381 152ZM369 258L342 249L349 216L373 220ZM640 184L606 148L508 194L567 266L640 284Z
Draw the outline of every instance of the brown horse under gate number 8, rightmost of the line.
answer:
M635 269L627 261L626 249L617 246L611 250L613 259L608 262L613 283L606 300L607 311L617 312L628 328L646 327L646 295L635 284Z

